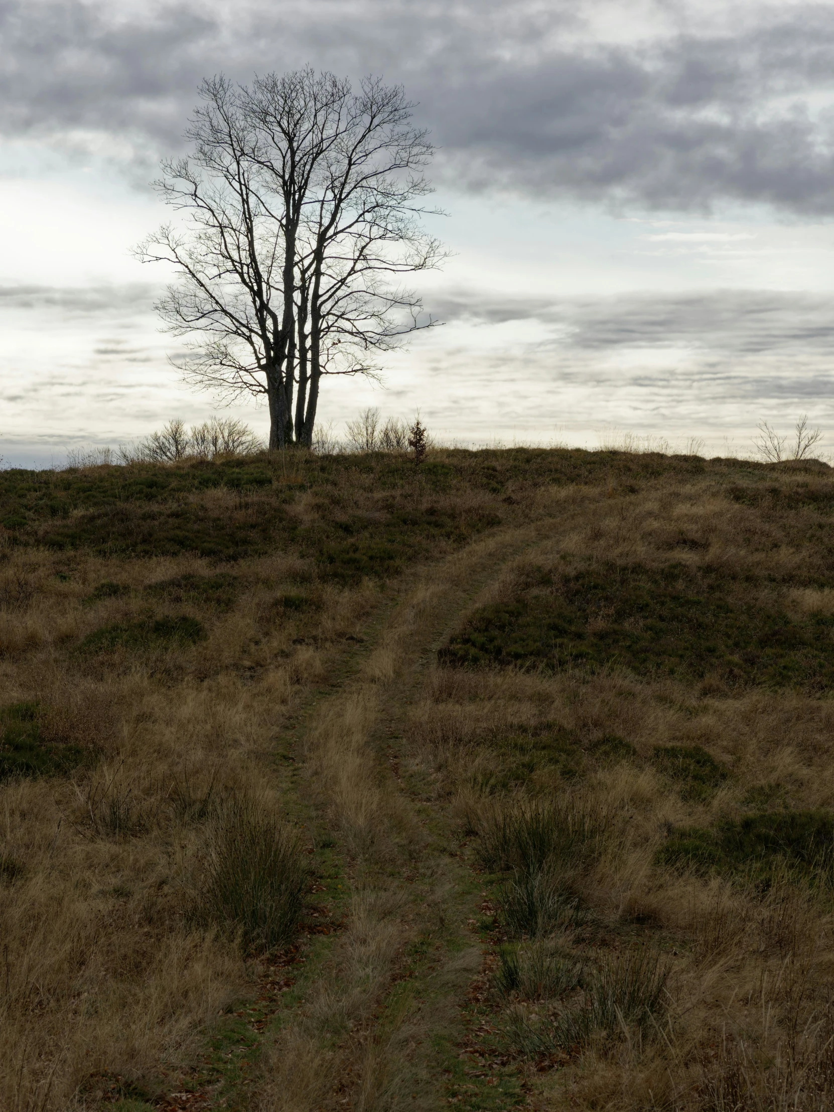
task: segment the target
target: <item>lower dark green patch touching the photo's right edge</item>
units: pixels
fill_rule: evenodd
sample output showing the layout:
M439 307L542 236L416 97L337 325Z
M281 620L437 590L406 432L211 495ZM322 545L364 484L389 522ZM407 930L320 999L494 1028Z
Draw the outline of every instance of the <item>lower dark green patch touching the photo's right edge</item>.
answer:
M797 878L827 883L834 873L834 814L827 811L763 811L726 818L712 827L673 831L657 860L698 873L746 873L766 877L786 867Z

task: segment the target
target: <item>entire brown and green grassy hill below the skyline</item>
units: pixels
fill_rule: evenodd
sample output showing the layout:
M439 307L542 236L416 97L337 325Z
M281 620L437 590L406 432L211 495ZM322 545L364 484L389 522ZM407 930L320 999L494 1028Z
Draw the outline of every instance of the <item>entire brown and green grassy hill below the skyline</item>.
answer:
M834 1103L834 471L0 473L0 1106Z

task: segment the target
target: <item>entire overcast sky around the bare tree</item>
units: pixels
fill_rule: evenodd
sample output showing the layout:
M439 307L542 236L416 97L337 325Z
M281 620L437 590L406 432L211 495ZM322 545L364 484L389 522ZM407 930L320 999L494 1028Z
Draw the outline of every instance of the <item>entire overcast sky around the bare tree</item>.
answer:
M216 405L187 389L132 244L203 76L381 75L439 150L443 327L385 387L461 444L834 451L834 3L0 0L0 454L57 461ZM234 410L258 429L262 409Z

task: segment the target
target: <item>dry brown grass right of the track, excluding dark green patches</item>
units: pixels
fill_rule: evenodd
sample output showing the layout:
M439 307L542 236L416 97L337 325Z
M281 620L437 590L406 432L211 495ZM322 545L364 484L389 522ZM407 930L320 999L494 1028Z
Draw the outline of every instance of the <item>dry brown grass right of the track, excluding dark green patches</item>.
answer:
M724 566L739 578L766 569L772 585L765 589L783 590L792 608L831 613L831 587L790 586L830 576L818 520L804 510L763 513L708 487L628 500L559 492L555 500L562 515L553 538L507 567L475 608L513 597L530 564L554 567L566 553L662 566L683 534L693 545L674 549L674 559ZM777 586L785 580L786 588ZM595 924L572 945L595 962L612 949L622 953L654 940L674 963L668 1017L656 1037L645 1044L614 1032L544 1073L533 1053L535 1106L828 1106L834 905L827 882L808 888L785 871L763 886L754 876L702 878L657 863L671 827L709 827L755 810L753 798L831 811L834 712L826 695L756 686L729 692L706 682L641 678L627 667L555 674L440 667L427 675L408 739L431 770L438 805L450 806L476 834L496 808L517 808L524 800L589 798L613 808L616 833L603 852L590 866L563 874ZM542 732L569 738L566 759L555 758L553 748L542 752ZM631 746L633 756L599 749L608 736ZM702 798L687 798L653 765L655 747L668 744L706 749L728 778Z

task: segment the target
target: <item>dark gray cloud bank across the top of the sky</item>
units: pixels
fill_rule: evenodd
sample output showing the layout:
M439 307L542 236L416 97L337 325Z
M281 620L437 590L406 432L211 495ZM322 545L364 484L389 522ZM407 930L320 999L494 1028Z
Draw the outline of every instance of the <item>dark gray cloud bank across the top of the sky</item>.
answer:
M440 180L464 189L834 214L834 7L763 6L701 34L666 19L634 42L600 41L584 23L593 11L593 0L251 0L234 12L0 0L0 122L145 172L178 147L203 75L310 61L404 81L443 148Z

